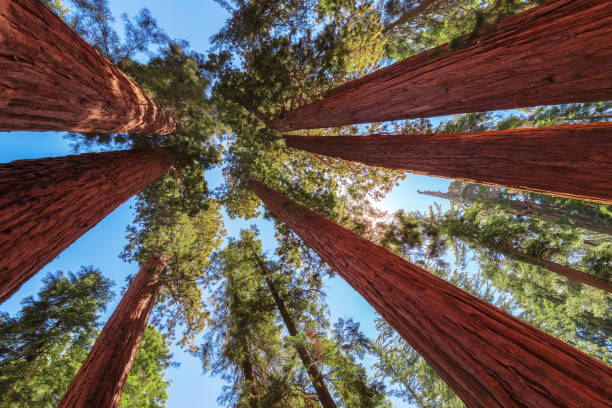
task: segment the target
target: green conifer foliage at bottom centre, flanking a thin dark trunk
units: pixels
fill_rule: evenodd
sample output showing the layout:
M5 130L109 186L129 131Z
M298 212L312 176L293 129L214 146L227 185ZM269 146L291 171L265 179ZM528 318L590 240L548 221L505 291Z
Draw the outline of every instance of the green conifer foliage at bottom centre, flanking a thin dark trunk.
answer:
M210 276L219 285L211 302L216 323L205 337L202 358L205 366L225 372L225 380L232 383L221 401L246 401L250 395L262 407L309 406L314 390L296 353L303 347L338 397L339 406L386 406L382 385L371 382L356 362L370 346L359 324L341 321L333 336L326 334L329 323L322 303L320 266L301 264L296 270L299 261L294 255L279 254L279 263L266 260L254 230L243 230L240 240L230 240L215 255ZM287 265L286 259L292 259L292 264ZM280 318L274 296L298 329L296 335L288 333L289 326L287 331L278 326L279 321L288 323L286 316ZM257 373L256 384L246 375L247 360ZM227 374L230 367L233 374ZM280 385L286 387L281 393ZM290 399L272 398L278 395Z

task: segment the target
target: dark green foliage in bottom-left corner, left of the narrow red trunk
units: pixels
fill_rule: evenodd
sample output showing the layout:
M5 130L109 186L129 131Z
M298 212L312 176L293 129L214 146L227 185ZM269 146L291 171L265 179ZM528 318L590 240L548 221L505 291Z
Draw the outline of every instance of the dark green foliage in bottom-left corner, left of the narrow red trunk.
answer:
M0 403L52 407L98 334L111 282L93 268L49 274L37 299L15 317L0 316Z

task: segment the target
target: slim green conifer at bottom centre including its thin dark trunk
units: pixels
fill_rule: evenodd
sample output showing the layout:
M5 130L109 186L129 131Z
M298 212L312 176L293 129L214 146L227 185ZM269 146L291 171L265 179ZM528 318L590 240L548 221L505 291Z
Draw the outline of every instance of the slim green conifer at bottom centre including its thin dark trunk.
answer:
M364 347L363 343L366 342L363 337L360 337L362 335L359 334L358 325L355 326L352 322L341 322L337 326L336 330L341 331L342 334L351 333L352 336L348 334L346 336L339 334L333 338L325 336L324 331L328 323L320 310L320 300L317 301L317 298L321 296L319 278L310 274L302 276L303 270L298 273L300 277L294 276L296 271L292 271L293 273L281 271L282 268L271 264L261 254L261 242L255 234L253 231L243 230L240 240L231 240L228 246L216 256L215 274L221 273L227 280L227 283L222 286L225 288L225 299L227 299L223 304L231 302L225 306L226 314L223 316L226 323L223 325L229 324L229 316L233 316L234 319L240 316L247 318L241 324L236 321L236 326L234 326L234 320L231 320L231 327L237 331L233 335L227 331L220 333L224 333L224 336L241 338L244 343L251 344L251 362L257 360L257 352L253 349L259 348L269 352L269 350L274 350L274 344L282 345L277 353L279 357L285 359L284 367L293 367L294 370L298 370L294 372L294 377L289 377L289 371L285 371L288 378L293 378L295 388L292 389L308 387L314 390L322 406L382 406L384 394L381 386L368 381L365 370L354 361L353 356L349 353L350 350ZM291 252L293 252L292 255L285 253L280 255L280 258L284 259L284 262L287 262L289 258L297 261L295 248ZM220 276L217 275L216 279L219 278ZM241 287L240 293L236 292L238 287ZM274 309L278 312L278 316L275 316ZM239 310L241 314L237 314ZM267 325L260 326L259 329L255 328L256 324L259 325L262 322L274 324L276 320L281 322L284 331L288 334L284 341L280 341L279 331L265 331L264 329L269 327ZM264 335L264 332L268 333L267 336ZM220 333L215 336L220 336ZM341 338L343 340L340 340ZM213 350L215 344L219 342L218 337L209 336L208 339L207 349ZM351 343L352 340L353 343ZM225 340L226 344L228 341L229 339ZM262 347L263 344L268 344L268 347ZM243 345L240 347L245 348ZM224 350L218 358L231 358L231 354L227 354L229 350ZM296 352L299 358L297 366L295 362L291 362L290 357ZM235 360L234 365L240 366ZM259 370L265 372L263 368ZM242 371L245 372L244 369ZM302 371L307 374L305 380L310 383L310 386L304 384L304 379L300 378L299 373ZM270 372L267 376L268 381L273 378ZM270 385L267 388L265 385L260 386L259 401L271 401L269 398L273 389L270 387ZM287 395L292 394L290 391L285 392ZM332 397L332 393L337 396L337 399Z

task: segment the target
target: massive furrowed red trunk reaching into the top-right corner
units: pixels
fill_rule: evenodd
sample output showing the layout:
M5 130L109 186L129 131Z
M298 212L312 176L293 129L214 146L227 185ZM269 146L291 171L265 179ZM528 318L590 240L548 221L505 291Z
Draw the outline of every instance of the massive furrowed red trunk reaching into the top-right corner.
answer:
M612 99L609 0L550 0L460 43L348 82L272 123L286 132Z

